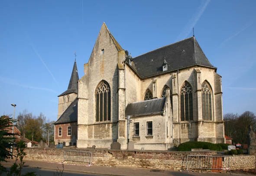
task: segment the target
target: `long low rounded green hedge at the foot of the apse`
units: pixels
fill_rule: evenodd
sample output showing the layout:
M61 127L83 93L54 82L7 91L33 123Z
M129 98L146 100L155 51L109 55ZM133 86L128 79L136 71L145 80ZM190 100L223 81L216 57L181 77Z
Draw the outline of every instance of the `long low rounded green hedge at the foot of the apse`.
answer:
M178 146L178 151L191 151L191 148L203 148L214 151L222 151L220 144L213 144L211 142L188 141Z

